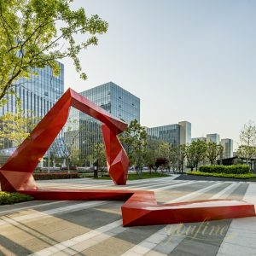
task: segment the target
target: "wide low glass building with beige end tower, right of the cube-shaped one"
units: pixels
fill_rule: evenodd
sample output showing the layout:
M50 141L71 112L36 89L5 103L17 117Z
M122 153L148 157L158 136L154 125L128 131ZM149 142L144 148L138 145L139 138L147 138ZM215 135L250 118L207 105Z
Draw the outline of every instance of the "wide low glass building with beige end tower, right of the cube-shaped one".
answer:
M191 143L191 123L187 121L173 125L163 125L147 128L149 137L170 143L173 146Z

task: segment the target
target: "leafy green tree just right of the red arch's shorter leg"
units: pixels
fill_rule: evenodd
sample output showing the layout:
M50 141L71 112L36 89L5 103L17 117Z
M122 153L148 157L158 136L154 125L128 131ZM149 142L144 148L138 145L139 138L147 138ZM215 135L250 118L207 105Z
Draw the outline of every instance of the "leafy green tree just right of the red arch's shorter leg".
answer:
M132 120L119 137L128 154L130 164L136 166L137 174L139 174L138 171L143 167L147 137L145 127L140 125L137 119Z

